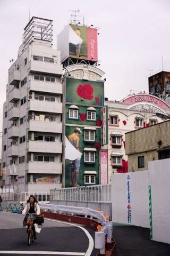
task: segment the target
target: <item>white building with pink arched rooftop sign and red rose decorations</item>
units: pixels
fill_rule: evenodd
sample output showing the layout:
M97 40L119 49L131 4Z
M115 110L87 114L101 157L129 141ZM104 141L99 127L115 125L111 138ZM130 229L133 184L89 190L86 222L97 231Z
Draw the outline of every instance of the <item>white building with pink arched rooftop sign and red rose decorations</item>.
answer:
M107 151L107 177L110 183L112 173L128 172L125 133L163 122L156 113L169 115L170 106L164 100L146 93L129 95L120 102L107 100L105 106L108 106L108 145L101 149Z

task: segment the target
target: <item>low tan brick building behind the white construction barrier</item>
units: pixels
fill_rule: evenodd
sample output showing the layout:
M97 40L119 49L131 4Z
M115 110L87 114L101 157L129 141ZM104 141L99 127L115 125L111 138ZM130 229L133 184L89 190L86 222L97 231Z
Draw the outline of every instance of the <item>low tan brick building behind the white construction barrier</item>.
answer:
M128 171L148 170L148 162L170 158L170 121L125 134Z

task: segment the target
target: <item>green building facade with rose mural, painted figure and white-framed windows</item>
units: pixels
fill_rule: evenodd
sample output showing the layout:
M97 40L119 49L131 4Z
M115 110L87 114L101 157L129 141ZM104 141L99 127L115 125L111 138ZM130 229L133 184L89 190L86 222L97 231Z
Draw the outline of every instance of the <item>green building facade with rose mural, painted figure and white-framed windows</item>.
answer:
M104 82L65 78L65 187L99 178Z

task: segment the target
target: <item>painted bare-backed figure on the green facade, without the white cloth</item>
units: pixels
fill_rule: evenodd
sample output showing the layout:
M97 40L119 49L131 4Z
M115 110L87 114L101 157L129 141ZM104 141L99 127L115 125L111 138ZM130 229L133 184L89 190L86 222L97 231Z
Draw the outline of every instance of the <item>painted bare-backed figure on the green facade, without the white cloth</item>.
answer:
M73 133L70 134L67 138L70 141L71 145L79 150L79 142L80 142L80 128L74 129ZM78 187L78 179L79 179L79 169L80 169L80 158L76 158L71 161L71 183L72 187Z

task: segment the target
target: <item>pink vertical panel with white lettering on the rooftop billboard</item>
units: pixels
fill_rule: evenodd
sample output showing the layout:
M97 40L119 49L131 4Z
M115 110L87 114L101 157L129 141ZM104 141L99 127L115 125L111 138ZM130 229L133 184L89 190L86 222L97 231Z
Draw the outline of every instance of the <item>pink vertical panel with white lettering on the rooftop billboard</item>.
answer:
M97 29L87 28L87 59L97 61Z

